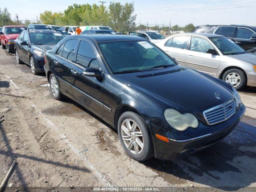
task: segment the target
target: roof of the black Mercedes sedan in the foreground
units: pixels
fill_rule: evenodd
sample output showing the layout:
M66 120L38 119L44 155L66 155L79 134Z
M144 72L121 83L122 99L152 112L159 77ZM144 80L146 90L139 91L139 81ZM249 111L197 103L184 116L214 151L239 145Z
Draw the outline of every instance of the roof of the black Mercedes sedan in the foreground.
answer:
M90 39L94 40L97 43L98 42L110 42L110 41L132 41L132 40L144 40L144 38L138 37L138 36L132 36L132 35L115 35L115 34L91 34L91 35L73 35L68 38L73 38L73 37L80 37L84 39Z

